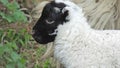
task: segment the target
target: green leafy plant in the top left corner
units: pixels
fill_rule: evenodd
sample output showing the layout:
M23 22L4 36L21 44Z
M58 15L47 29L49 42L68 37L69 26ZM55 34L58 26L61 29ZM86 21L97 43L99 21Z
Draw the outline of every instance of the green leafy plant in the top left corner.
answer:
M9 2L8 0L0 0L0 2L4 5L4 7L7 9L7 12L0 11L0 16L8 21L11 22L26 22L27 18L25 14L20 10L19 4L16 2L16 0L13 0L12 2Z

